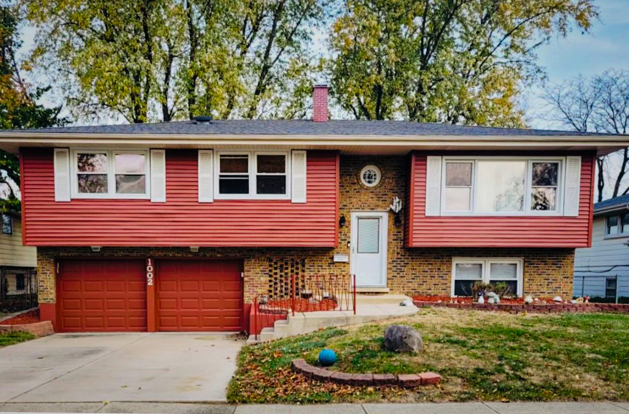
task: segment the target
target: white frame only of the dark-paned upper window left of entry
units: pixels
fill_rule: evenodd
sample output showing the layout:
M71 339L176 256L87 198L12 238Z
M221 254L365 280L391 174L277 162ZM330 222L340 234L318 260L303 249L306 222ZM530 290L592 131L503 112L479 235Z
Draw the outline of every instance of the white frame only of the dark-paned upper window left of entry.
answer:
M248 194L221 194L219 187L219 179L221 174L221 155L248 155L249 169L249 193ZM284 155L285 174L264 174L260 175L277 175L286 176L286 194L257 194L257 176L258 173L258 155ZM214 199L219 200L290 200L291 199L291 152L284 150L264 150L264 151L230 151L215 150L214 151Z

